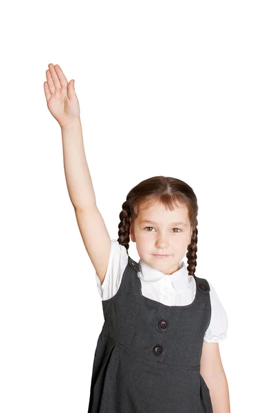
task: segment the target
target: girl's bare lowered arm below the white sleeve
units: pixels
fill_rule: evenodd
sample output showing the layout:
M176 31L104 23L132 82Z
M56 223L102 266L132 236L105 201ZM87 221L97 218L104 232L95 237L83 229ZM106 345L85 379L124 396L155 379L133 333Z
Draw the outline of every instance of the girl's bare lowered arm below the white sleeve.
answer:
M203 341L200 374L209 389L213 413L230 413L228 381L221 363L219 343Z

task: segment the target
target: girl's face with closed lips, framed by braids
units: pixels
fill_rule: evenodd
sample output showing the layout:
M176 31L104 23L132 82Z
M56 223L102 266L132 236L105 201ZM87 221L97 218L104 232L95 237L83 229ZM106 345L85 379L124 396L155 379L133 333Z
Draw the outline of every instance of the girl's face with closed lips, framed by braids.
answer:
M191 236L188 209L179 207L170 211L160 202L150 208L140 205L137 218L130 226L130 237L137 244L141 260L169 275L179 269Z

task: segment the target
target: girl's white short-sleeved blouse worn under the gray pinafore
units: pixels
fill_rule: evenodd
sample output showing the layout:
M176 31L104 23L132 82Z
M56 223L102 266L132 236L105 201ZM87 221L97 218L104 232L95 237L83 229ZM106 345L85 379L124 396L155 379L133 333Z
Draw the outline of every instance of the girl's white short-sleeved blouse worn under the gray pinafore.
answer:
M140 277L142 284L142 295L166 306L188 306L194 301L197 288L195 278L188 275L186 264L183 261L179 262L179 269L171 275L155 270L142 260L138 263L141 271L137 272L137 276ZM126 248L117 240L111 240L111 253L102 285L96 274L98 292L102 300L109 299L118 292L127 264ZM228 317L213 286L209 281L208 284L210 286L211 319L203 340L208 343L220 343L225 339L228 331Z

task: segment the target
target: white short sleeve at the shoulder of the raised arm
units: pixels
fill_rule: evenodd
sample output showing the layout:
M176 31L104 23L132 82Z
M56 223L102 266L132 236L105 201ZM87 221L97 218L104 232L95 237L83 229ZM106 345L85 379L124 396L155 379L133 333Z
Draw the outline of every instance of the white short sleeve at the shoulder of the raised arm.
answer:
M122 275L128 264L128 254L126 248L120 245L117 240L111 240L111 252L107 266L107 272L101 284L98 274L96 274L96 284L98 293L102 300L113 297L120 288Z

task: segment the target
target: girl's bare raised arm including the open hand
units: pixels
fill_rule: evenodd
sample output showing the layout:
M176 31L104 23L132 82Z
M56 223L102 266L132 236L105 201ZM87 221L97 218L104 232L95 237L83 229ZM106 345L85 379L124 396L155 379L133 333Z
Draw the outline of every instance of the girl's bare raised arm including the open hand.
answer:
M74 206L85 248L102 283L111 253L111 240L96 205L96 195L83 145L80 107L74 82L68 83L61 67L52 63L46 76L44 91L47 107L61 126L69 198Z

